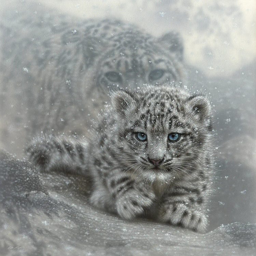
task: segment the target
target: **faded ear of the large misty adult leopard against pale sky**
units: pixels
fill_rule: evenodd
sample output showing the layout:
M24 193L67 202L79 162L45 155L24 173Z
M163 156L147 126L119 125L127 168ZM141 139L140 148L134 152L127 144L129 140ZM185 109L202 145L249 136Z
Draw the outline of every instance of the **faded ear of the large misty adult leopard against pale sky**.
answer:
M183 40L179 33L169 32L164 34L158 39L158 42L168 48L177 59L183 60Z

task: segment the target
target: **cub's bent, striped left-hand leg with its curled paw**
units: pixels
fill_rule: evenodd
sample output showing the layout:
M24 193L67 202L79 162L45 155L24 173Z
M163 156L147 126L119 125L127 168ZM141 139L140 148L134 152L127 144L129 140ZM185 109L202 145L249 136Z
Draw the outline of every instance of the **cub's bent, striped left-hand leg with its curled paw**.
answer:
M97 208L118 214L122 219L143 216L155 201L150 187L136 183L119 169L101 173L95 180L96 187L90 202Z

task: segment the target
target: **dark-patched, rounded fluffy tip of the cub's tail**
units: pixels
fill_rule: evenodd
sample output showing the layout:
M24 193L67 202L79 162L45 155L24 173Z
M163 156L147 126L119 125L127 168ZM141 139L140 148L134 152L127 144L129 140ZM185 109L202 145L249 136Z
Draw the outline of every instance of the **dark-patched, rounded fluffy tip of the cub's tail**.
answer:
M28 160L40 169L46 169L51 162L56 146L45 138L34 139L26 148Z

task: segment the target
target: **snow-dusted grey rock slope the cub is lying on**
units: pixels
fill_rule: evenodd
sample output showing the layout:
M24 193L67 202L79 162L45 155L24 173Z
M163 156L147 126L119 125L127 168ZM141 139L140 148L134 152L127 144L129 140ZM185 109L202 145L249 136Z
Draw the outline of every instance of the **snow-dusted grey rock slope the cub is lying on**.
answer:
M255 224L200 234L127 222L92 208L89 182L79 176L37 173L5 152L0 170L0 255L255 255Z

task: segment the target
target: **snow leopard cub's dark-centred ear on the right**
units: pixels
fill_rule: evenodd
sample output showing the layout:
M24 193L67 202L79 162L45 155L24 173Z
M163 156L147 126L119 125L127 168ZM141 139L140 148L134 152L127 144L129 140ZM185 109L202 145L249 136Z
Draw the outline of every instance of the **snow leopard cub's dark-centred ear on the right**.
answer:
M194 95L187 99L187 105L189 111L211 129L212 111L209 100L202 95Z

